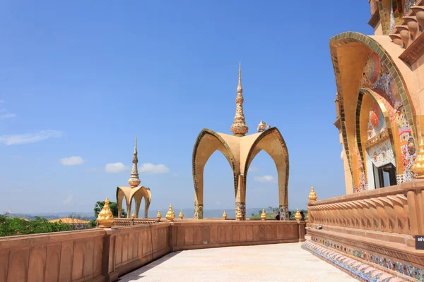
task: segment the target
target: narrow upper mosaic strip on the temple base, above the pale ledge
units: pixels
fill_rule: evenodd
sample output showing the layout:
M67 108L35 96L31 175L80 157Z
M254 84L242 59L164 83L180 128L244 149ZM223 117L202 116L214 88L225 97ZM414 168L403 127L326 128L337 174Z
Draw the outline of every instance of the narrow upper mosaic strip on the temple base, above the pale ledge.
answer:
M424 281L424 269L419 269L418 267L411 266L403 262L396 262L393 259L384 257L382 255L375 255L363 250L357 250L352 247L333 242L331 240L326 240L324 238L317 238L312 236L312 241L324 245L325 247L332 248L338 252L344 252L353 257L358 257L358 259L363 259L365 262L371 262L386 269L390 269L391 271L396 271L399 274L403 274L411 278L416 278L419 281Z

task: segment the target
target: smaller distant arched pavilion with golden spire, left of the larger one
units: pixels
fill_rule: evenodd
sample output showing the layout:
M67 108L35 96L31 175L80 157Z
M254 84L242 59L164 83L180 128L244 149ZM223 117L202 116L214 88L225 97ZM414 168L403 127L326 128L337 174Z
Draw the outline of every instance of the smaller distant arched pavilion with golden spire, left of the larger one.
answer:
M137 137L134 143L134 157L132 160L132 168L131 168L131 176L128 180L129 187L118 186L117 188L117 204L118 204L118 214L119 218L122 216L122 201L126 200L126 214L127 217L130 217L131 213L131 204L134 199L136 202L135 209L135 217L139 217L141 200L144 198L144 217L148 217L148 207L151 204L152 194L150 188L146 188L144 186L139 186L141 180L139 178L139 168L137 168L137 164L139 163L139 159L137 158Z

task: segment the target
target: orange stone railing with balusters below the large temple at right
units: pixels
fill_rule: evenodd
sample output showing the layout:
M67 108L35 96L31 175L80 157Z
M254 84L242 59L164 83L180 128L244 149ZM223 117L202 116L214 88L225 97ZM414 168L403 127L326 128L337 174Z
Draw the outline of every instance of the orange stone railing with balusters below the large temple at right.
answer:
M309 223L404 235L424 234L424 180L310 202Z

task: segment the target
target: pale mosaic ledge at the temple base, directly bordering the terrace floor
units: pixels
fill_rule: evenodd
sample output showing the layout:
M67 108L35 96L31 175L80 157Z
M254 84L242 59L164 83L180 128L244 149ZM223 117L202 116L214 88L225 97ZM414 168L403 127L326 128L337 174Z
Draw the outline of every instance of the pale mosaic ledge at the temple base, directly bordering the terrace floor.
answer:
M333 264L338 269L345 271L347 274L353 276L359 281L372 281L372 282L400 282L405 279L393 276L384 271L376 269L368 264L364 264L351 257L327 249L321 245L318 245L310 240L302 244L302 248L312 252L313 255L324 259L326 262Z

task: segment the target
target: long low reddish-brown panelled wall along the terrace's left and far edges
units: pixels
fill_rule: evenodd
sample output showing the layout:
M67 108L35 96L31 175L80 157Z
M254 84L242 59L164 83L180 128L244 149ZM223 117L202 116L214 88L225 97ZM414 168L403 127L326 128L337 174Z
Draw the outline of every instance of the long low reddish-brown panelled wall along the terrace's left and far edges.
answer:
M175 250L305 240L304 221L136 221L118 228L0 238L0 281L117 281Z

